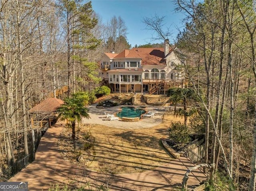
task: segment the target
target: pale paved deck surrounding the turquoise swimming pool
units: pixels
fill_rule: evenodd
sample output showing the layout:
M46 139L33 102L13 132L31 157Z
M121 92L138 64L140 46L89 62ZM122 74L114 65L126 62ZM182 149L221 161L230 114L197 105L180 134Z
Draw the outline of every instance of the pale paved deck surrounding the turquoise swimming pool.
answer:
M108 114L114 114L116 115L117 112L121 111L121 107L124 107L127 105L121 105L121 106L114 106L110 108L96 108L96 104L93 104L88 107L90 119L83 119L84 124L100 124L105 125L109 127L115 127L115 128L121 128L121 129L140 129L140 128L150 128L153 126L156 126L160 123L162 123L162 116L163 114L169 110L170 106L150 106L146 105L142 108L143 110L157 112L153 118L143 117L138 122L124 122L121 119L110 121L106 118L104 112ZM133 106L133 107L138 107Z

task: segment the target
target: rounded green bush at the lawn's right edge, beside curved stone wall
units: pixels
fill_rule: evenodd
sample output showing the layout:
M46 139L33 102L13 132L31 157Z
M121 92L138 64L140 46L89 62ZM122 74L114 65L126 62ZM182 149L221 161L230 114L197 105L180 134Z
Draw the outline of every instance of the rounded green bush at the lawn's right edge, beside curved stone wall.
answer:
M168 131L170 140L181 144L190 142L188 128L184 124L181 124L180 122L172 123Z

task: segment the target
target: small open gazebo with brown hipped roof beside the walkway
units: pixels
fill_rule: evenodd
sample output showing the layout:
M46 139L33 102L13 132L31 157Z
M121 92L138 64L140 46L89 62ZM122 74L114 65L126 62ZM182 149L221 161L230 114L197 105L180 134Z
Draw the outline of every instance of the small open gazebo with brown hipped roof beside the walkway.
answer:
M43 127L43 123L49 122L51 126L52 120L56 119L57 109L64 104L63 100L58 98L47 98L46 100L40 102L28 112L32 115L31 117L31 125L34 128L34 117L38 116L40 120L36 120L36 122L40 123L41 128ZM48 119L48 120L46 120Z

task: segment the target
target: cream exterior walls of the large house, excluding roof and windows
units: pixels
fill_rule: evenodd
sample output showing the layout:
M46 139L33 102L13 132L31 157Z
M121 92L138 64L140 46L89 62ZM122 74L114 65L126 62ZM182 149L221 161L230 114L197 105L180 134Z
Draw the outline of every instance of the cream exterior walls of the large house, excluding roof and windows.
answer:
M120 62L120 67L118 67L118 62ZM127 62L137 62L136 67L128 67ZM140 58L116 58L116 59L110 59L107 55L103 55L101 61L100 61L100 66L102 70L100 71L100 76L102 79L108 80L108 82L112 85L112 90L114 91L114 85L119 84L120 85L120 91L121 92L127 92L127 91L136 91L140 92L142 85L148 85L148 90L145 89L146 92L150 90L151 87L156 85L156 83L160 82L161 79L161 71L165 71L165 86L164 89L168 90L169 87L184 87L183 84L183 77L182 73L177 70L175 70L176 65L180 65L181 61L178 59L178 57L175 55L174 52L171 52L167 57L166 57L166 64L167 65L141 65L142 60ZM117 64L115 64L117 63ZM171 63L173 65L171 65ZM109 65L110 67L105 69L104 65ZM104 67L104 69L103 69ZM118 69L118 68L124 68L124 69L132 69L131 71L127 71L122 73L121 71L118 72L113 72L113 69ZM145 73L134 73L134 69L136 68L142 68L143 71L148 70L149 71L149 79L145 79ZM158 69L158 77L156 79L156 75L152 75L151 71L152 69ZM112 81L110 81L110 75L112 75ZM115 78L114 78L115 75ZM121 75L130 75L130 82L122 82L121 81ZM141 75L141 81L140 82L132 82L132 75ZM116 80L118 76L118 81ZM122 86L121 86L122 85ZM127 90L127 85L128 85L128 90ZM134 86L134 89L131 89L131 85ZM116 91L119 91L119 89L116 89ZM161 93L164 93L165 91L162 90L160 91Z

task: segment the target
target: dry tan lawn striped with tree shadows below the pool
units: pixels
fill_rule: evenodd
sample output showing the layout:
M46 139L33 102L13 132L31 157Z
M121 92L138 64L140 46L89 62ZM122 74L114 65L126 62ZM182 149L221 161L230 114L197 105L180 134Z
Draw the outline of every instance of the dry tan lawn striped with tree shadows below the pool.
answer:
M182 118L166 114L162 124L136 130L90 125L95 139L95 158L88 167L96 171L131 173L167 163L172 158L161 146L160 138L168 136L168 127L174 121Z

